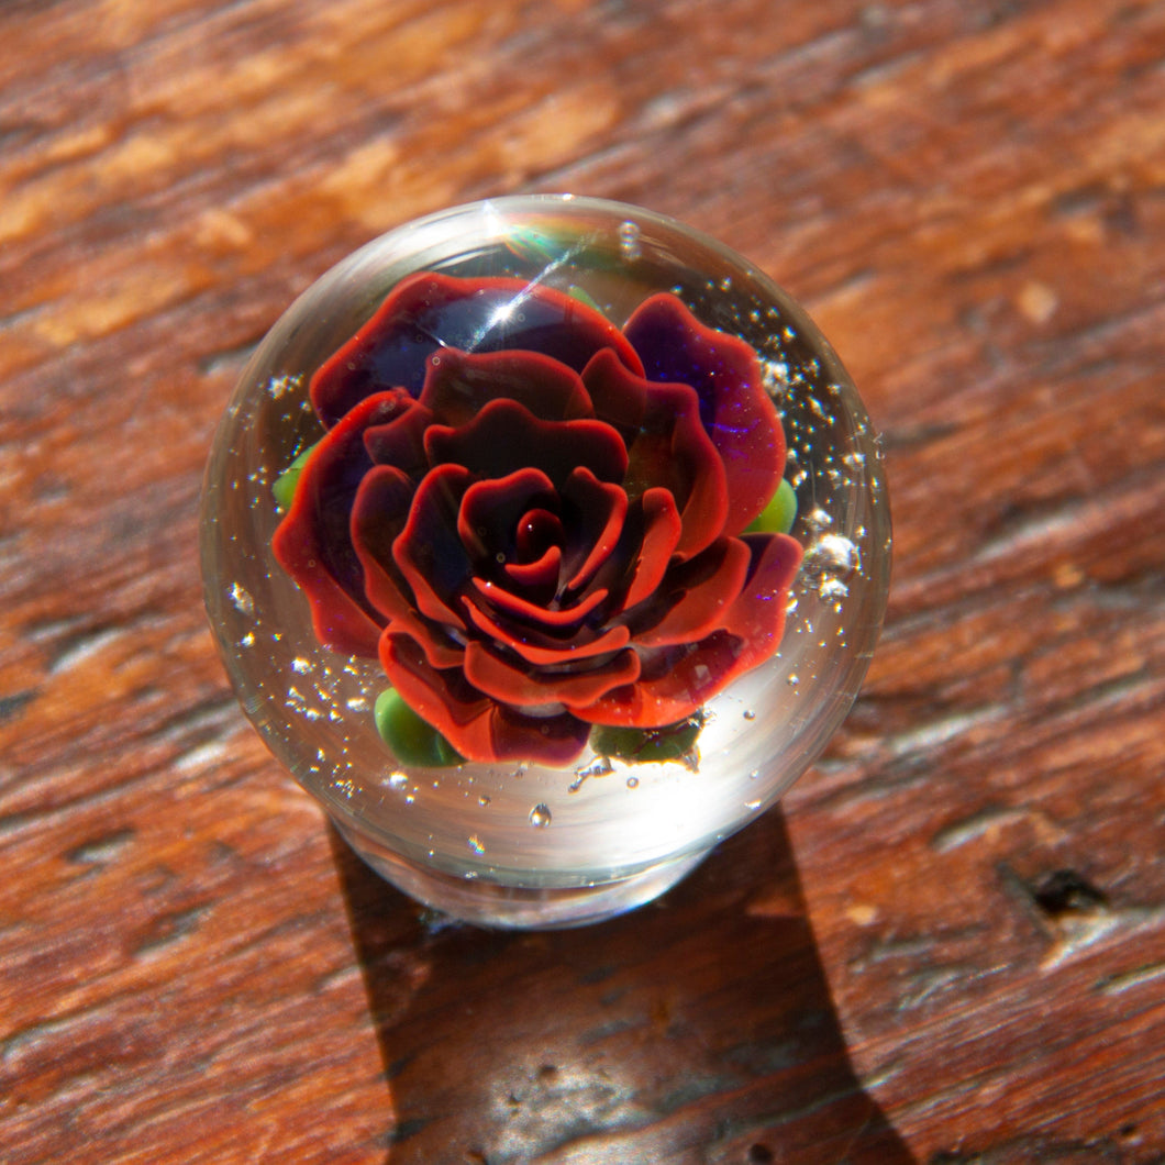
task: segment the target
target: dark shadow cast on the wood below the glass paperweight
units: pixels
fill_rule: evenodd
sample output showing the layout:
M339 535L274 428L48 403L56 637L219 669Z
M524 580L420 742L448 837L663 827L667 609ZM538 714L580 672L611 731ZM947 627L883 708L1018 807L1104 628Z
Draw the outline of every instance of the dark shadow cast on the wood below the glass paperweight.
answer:
M393 1165L912 1162L849 1062L779 809L569 931L426 917L332 845Z

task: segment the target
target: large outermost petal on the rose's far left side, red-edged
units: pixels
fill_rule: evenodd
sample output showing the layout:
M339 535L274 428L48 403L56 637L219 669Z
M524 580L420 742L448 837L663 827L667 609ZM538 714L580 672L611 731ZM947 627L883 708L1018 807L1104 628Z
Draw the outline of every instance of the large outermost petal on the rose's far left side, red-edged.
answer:
M276 560L308 596L316 637L337 651L376 655L382 622L363 594L363 567L351 537L352 507L372 467L366 431L411 403L380 393L327 433L304 464L291 507L271 538Z

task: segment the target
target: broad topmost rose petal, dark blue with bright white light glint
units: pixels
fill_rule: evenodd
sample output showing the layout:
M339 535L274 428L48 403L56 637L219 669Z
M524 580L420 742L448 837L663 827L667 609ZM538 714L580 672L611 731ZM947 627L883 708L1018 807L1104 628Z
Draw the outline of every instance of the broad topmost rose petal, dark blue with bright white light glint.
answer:
M327 428L386 388L421 393L429 358L463 352L530 351L581 372L613 348L642 372L635 350L603 316L544 284L515 278L459 280L422 271L402 280L375 315L311 381L311 403Z

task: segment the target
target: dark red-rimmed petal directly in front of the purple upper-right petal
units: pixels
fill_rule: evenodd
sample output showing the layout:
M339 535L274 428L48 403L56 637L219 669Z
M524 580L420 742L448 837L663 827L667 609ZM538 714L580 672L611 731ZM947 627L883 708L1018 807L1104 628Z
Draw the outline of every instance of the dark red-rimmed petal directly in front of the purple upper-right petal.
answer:
M683 518L676 552L690 556L718 538L728 517L723 463L700 421L700 402L686 384L657 384L600 352L582 372L595 416L623 436L628 463L623 488L671 492Z

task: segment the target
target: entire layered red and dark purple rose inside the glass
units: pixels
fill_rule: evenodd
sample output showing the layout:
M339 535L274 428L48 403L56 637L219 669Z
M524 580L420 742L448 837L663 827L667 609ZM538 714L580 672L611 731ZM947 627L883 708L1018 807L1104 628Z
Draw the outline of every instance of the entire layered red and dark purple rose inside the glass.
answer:
M311 382L274 538L325 647L473 761L567 764L768 659L800 563L746 534L785 443L756 353L671 295L622 330L520 280L412 276Z

